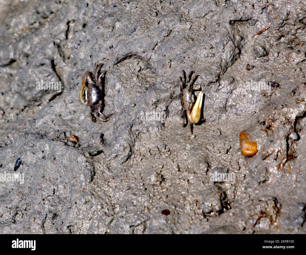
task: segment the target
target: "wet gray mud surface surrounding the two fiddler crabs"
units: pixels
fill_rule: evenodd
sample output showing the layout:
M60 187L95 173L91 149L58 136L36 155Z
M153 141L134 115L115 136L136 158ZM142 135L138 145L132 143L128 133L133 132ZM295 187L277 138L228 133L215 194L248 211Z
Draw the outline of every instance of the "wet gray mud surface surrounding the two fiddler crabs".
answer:
M306 232L304 1L14 0L0 20L0 174L24 174L0 181L0 233ZM108 122L80 102L95 63ZM194 135L182 70L205 93Z

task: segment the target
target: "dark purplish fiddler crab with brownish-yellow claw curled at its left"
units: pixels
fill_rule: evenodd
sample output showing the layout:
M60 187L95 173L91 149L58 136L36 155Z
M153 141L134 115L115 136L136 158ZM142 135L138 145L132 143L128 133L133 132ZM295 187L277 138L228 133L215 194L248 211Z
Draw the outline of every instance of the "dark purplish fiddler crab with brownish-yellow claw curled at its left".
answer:
M97 118L104 122L109 120L109 116L106 117L102 113L105 106L103 98L106 73L106 71L101 73L102 66L103 64L95 64L95 74L86 71L82 79L80 99L83 104L86 103L86 106L90 106L89 115L93 122L96 122Z

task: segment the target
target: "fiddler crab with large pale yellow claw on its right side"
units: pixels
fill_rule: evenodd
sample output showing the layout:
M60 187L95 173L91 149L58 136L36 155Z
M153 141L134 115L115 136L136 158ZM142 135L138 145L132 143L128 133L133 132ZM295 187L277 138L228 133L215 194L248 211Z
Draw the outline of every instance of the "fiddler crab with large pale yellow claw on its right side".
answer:
M185 116L187 115L187 125L189 122L189 127L190 131L192 132L192 124L196 124L199 122L200 117L201 117L201 108L202 108L202 101L203 101L203 92L200 91L196 102L194 103L194 95L192 92L196 90L200 90L201 86L200 84L195 85L195 88L193 88L193 85L196 81L196 79L199 77L199 75L196 75L192 79L192 74L194 71L191 71L188 80L186 79L186 73L183 70L182 71L182 76L180 77L181 79L181 104L182 104L182 110L181 110L181 115L183 118L183 127L185 127ZM193 104L194 103L194 104Z

